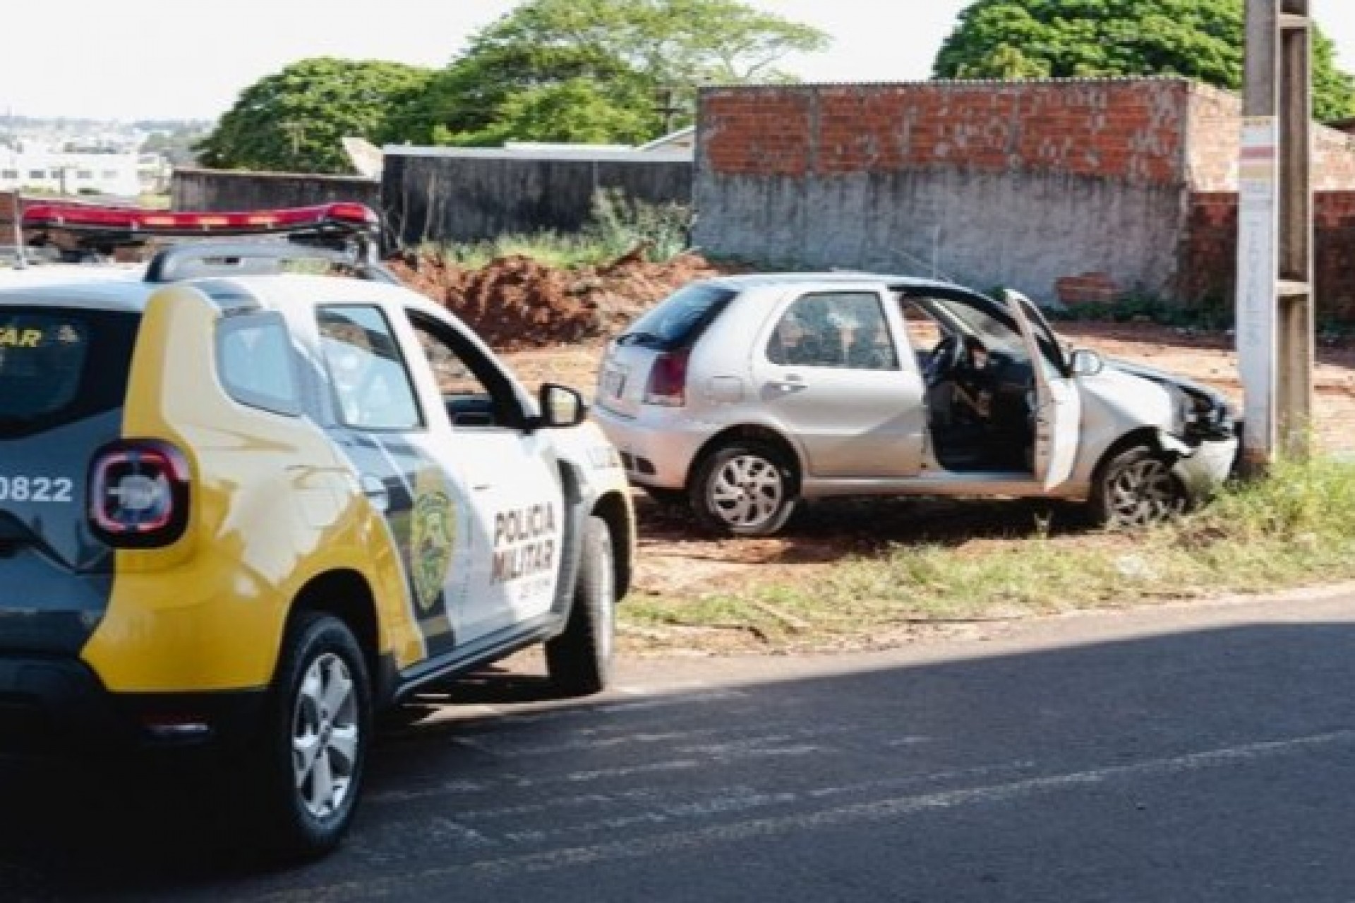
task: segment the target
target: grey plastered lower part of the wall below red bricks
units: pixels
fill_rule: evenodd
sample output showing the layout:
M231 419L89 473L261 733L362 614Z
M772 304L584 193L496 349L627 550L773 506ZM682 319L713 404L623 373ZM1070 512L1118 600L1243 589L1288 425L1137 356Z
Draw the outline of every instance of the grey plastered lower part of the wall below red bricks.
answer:
M1045 299L1110 273L1119 295L1171 290L1180 192L1085 176L973 171L699 179L695 244L770 268L940 276Z

